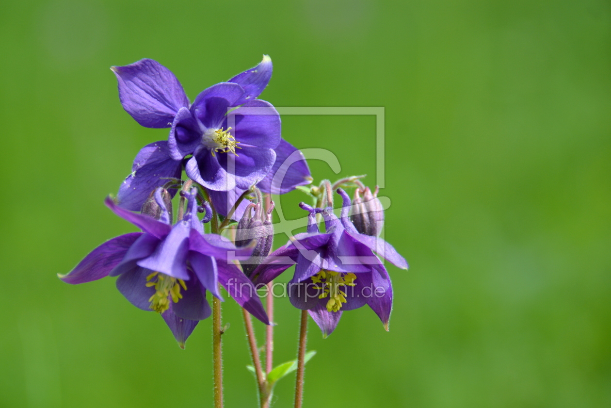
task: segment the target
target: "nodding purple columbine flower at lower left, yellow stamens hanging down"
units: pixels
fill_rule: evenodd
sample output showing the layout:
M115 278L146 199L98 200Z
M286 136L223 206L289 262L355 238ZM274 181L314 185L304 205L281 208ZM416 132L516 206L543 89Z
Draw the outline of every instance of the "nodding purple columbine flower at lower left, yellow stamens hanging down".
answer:
M184 347L197 323L210 316L206 291L222 300L219 283L225 289L232 285L244 287L234 295L236 302L269 324L254 285L231 262L250 256L252 248L236 248L221 236L204 234L197 218L196 188L189 192L184 218L172 226L161 191L158 188L155 193L161 208L159 220L122 209L106 198L106 206L144 232L131 232L104 242L60 279L78 284L119 276L117 289L137 308L161 313L180 347ZM202 221L210 217L207 209Z

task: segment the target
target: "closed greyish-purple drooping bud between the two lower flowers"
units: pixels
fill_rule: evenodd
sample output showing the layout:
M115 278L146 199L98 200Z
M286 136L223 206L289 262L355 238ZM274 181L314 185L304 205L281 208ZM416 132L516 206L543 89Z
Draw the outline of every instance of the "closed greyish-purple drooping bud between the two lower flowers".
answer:
M252 215L254 209L254 215ZM271 223L271 216L274 210L274 202L267 212L263 211L263 204L249 204L244 211L243 217L238 222L235 234L236 247L246 247L256 240L252 250L251 258L242 261L242 270L246 276L250 276L252 271L261 263L262 259L268 256L274 240L274 226Z

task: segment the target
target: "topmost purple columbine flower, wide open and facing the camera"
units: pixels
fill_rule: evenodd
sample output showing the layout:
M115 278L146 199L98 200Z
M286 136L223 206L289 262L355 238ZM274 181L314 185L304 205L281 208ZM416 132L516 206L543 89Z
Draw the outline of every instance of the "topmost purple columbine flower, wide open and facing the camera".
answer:
M180 178L188 155L187 175L210 190L246 190L262 180L263 187L271 186L265 177L296 150L280 138L276 109L256 99L272 69L271 59L263 56L256 67L205 89L191 104L174 74L152 59L112 67L123 108L142 126L170 127L168 141L148 144L136 155L132 173L119 189L119 205L139 210L164 178ZM282 162L275 165L276 157ZM279 188L307 184L309 176L301 157Z

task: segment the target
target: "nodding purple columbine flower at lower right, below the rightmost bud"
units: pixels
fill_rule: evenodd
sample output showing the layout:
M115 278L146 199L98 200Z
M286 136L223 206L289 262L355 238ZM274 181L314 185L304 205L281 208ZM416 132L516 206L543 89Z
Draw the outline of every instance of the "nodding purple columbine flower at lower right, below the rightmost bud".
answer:
M297 234L284 247L272 253L254 270L255 283L268 283L296 264L295 275L288 284L288 295L296 308L308 310L323 335L330 335L342 311L369 305L386 330L392 307L392 286L384 265L374 254L397 267L408 269L405 259L386 241L360 234L348 218L351 207L345 191L342 215L335 217L331 207L309 211L307 232ZM316 213L322 213L326 233L318 231Z

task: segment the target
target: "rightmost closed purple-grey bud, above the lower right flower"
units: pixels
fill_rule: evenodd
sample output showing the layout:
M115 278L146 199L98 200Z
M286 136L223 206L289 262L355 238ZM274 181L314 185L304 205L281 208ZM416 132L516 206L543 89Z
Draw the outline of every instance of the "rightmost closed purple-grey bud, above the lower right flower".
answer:
M378 199L378 187L373 194L369 187L357 188L352 204L350 220L354 228L361 234L379 237L384 226L384 208Z

